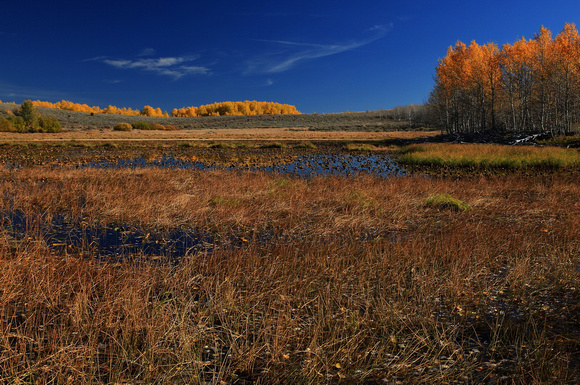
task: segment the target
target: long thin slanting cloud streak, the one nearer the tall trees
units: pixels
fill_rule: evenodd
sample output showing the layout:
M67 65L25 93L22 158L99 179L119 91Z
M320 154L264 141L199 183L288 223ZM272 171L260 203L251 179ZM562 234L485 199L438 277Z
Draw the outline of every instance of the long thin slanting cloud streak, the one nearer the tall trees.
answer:
M337 44L303 43L286 40L258 40L277 45L277 52L255 57L247 62L245 73L280 73L287 71L301 62L318 59L352 51L384 37L392 24L375 25L369 28L370 36ZM281 49L283 47L283 49Z

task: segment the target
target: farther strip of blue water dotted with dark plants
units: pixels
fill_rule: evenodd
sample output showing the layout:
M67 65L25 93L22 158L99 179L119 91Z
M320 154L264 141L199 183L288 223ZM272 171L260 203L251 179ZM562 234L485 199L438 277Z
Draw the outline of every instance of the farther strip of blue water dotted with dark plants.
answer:
M371 174L383 178L406 175L387 155L304 155L289 163L280 163L270 166L220 166L204 162L196 162L172 157L163 157L159 160L147 161L144 158L121 159L116 163L94 162L83 165L93 168L137 168L137 167L166 167L191 170L254 170L268 171L278 174L299 175L304 177L316 175L354 176L357 174Z

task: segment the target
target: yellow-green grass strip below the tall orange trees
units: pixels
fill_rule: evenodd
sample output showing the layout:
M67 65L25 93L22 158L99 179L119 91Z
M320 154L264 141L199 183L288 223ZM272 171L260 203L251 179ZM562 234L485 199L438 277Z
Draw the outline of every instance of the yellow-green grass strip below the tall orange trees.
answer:
M403 164L436 167L559 169L580 165L578 150L559 147L437 143L403 147L399 153Z

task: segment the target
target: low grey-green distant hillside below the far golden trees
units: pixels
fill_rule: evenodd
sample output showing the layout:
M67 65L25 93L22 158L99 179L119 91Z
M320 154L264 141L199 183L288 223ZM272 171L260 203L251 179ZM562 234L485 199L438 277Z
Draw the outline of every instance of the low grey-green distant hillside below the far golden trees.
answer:
M0 103L0 116L17 109L14 104ZM287 127L304 130L328 131L394 131L422 129L419 119L403 119L394 110L369 112L344 112L337 114L300 115L252 115L252 116L207 116L207 117L147 117L114 114L90 114L37 107L42 115L52 116L61 122L65 130L112 129L117 123L152 122L177 125L182 129L223 129L223 128L267 128Z

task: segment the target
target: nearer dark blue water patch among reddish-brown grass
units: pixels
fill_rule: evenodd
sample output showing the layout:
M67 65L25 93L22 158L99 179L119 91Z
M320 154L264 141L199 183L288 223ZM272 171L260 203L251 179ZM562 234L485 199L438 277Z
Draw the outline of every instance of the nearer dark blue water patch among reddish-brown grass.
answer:
M71 220L62 215L43 218L28 216L19 210L0 213L0 231L9 243L27 244L42 242L59 255L83 256L107 261L163 260L178 263L183 257L218 248L243 248L246 245L288 245L304 242L300 234L275 234L264 229L251 235L251 240L235 233L211 233L199 229L173 228L165 231L147 231L135 226L104 226L100 223ZM390 231L365 231L357 239L371 242L388 239L398 242L405 234ZM333 242L340 239L333 234L317 242Z

